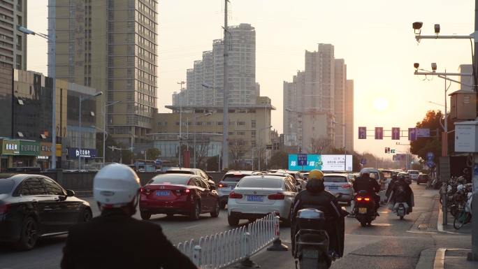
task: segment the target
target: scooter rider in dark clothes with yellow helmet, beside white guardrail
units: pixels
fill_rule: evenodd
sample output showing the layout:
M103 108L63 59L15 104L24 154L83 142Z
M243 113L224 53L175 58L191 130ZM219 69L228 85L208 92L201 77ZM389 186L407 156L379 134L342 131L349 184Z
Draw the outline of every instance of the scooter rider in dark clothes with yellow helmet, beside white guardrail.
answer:
M305 191L300 191L294 201L291 225L292 256L296 256L294 249L295 235L298 232L296 227L296 215L299 210L304 208L315 208L324 212L326 216L324 229L327 231L330 240L329 255L335 259L340 258L343 254L343 239L342 242L340 242L338 232L338 226L340 225L338 224L340 224L340 220L343 220L342 209L338 205L337 198L325 190L324 173L322 173L321 170L314 169L310 171L309 181L305 185ZM340 231L340 233L342 233L342 231Z

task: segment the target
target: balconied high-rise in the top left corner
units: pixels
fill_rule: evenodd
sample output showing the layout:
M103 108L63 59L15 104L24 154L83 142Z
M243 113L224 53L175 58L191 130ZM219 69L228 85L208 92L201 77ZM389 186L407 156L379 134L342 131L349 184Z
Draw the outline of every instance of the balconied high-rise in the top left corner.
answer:
M0 5L0 66L27 70L27 0L3 0Z

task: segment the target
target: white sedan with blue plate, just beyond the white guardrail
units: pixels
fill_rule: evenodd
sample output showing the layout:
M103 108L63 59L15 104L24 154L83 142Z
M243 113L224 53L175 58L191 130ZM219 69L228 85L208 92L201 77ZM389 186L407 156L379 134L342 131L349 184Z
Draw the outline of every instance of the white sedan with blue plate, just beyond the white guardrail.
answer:
M277 175L249 175L242 177L229 194L227 221L237 226L240 219L255 221L275 212L282 225L291 225L291 211L296 187L289 177Z

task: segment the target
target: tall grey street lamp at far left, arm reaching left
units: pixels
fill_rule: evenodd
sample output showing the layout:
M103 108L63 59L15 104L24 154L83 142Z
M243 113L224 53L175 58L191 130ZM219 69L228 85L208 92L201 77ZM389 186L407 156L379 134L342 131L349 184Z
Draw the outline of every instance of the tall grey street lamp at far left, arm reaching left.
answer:
M53 78L53 85L52 85L52 165L50 166L52 169L57 168L57 42L56 42L56 29L55 29L55 20L53 22L52 27L53 34L48 36L46 34L36 33L24 27L19 27L18 31L21 31L24 34L31 34L33 36L41 36L46 40L52 43L52 65L51 68L51 77ZM50 73L48 74L50 75Z

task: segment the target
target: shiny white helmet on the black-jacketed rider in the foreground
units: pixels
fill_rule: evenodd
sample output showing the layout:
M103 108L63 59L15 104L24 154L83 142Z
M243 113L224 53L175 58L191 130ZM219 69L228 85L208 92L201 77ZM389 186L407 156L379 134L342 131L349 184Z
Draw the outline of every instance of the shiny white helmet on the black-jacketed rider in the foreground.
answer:
M113 163L96 173L93 181L94 200L105 208L121 208L138 194L138 175L124 164Z

